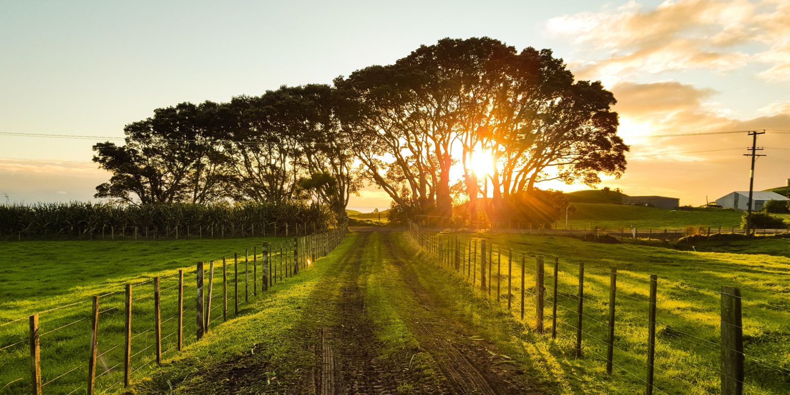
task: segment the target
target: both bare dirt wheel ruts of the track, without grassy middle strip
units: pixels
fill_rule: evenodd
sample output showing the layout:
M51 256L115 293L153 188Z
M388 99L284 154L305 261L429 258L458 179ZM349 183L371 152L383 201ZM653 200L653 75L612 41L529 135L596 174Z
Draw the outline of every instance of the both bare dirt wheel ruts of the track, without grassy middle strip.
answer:
M408 263L408 252L394 243L393 233L366 229L356 237L362 246L338 268L338 280L343 285L337 295L337 309L325 311L339 321L322 328L322 341L316 344L322 363L314 374L314 393L529 393L517 371L495 364L491 344L472 340L475 337L465 325L443 314L446 306L420 283L415 265ZM419 344L419 352L430 355L438 367L438 374L429 379L412 377L420 374L401 366L402 359L380 357L379 328L368 317L359 286L364 283L360 267L368 263L361 257L366 249L376 248L380 249L377 258L391 266L385 269L397 273L408 290L406 296L418 306L397 309L397 314ZM419 384L404 388L404 383Z

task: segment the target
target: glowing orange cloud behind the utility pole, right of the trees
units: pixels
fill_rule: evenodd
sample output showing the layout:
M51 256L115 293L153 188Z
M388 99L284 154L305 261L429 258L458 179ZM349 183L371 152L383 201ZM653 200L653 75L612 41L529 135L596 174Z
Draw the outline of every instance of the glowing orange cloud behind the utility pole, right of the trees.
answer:
M746 153L751 137L708 134L688 137L651 137L664 134L721 132L729 130L787 129L790 103L773 103L765 116L734 119L712 108L714 91L677 81L639 84L625 81L612 87L618 100L623 136L631 152L621 179L606 179L601 186L620 187L626 194L661 194L679 197L682 204L699 205L707 196L715 200L732 190L749 186L750 161ZM755 188L784 184L788 173L790 134L764 134L758 145L766 147L755 172Z

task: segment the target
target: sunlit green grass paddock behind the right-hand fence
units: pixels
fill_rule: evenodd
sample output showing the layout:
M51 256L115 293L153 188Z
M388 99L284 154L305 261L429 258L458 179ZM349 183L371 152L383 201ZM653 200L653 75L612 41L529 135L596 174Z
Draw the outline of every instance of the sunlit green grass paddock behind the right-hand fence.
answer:
M506 300L507 250L547 256L547 327L551 327L553 257L560 258L558 277L559 337L529 338L523 347L544 359L535 379L554 382L560 393L641 393L647 352L649 275L658 280L656 387L666 393L718 393L720 382L720 286L734 285L743 294L746 393L787 393L790 389L790 258L767 254L681 252L666 248L585 243L560 237L460 235L466 251L470 237L494 243L496 262L502 249L502 295ZM489 244L490 245L490 244ZM778 248L778 247L777 247ZM480 262L480 258L477 258ZM534 329L535 259L525 260L525 326ZM577 320L578 266L585 264L583 359L573 356ZM478 263L478 269L479 269ZM609 268L619 270L615 373L605 374ZM496 273L496 263L493 265ZM513 264L513 317L520 306L521 256ZM480 287L477 273L476 287ZM496 276L495 276L496 278ZM493 295L496 292L492 292ZM483 294L484 295L484 294ZM532 366L533 367L533 366ZM529 366L528 366L529 368ZM629 373L630 372L630 373ZM631 373L635 374L631 375Z

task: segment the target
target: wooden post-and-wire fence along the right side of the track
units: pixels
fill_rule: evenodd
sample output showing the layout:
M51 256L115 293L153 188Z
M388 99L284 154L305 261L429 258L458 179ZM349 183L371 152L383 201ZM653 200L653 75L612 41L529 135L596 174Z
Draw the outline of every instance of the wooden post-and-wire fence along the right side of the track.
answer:
M653 350L656 350L656 348L654 348L656 346L662 348L676 348L681 347L682 344L686 344L686 347L683 347L683 349L686 350L686 352L690 352L690 355L694 355L694 360L688 358L690 362L694 363L695 366L703 367L706 371L716 374L715 377L719 379L720 389L724 394L743 393L744 361L747 363L747 366L751 363L756 363L784 377L790 376L790 369L781 366L781 364L758 358L753 355L753 353L744 351L740 304L742 301L743 303L753 303L754 306L751 307L763 308L766 310L773 309L772 311L778 310L781 313L790 312L790 309L775 306L771 303L743 298L740 295L739 288L723 287L720 291L715 291L691 287L686 284L675 284L671 280L660 279L655 275L640 276L638 274L623 273L618 272L616 268L612 268L611 270L589 268L589 266L577 265L561 260L560 258L555 258L553 264L551 264L552 260L550 258L544 258L540 255L524 254L517 251L512 251L511 253L510 249L495 246L490 240L480 240L480 255L478 255L478 249L476 248L479 241L478 239L469 240L468 243L464 240L462 243L457 235L428 233L413 222L408 224L408 235L410 235L419 248L427 254L427 257L434 260L439 267L450 273L457 273L460 275L463 280L466 280L473 289L478 290L480 295L486 299L491 299L493 296L495 301L500 302L498 304L492 304L491 306L493 308L497 308L496 306L498 305L499 308L510 310L511 313L514 314L513 318L522 322L525 327L535 329L536 332L541 335L545 333L546 336L548 336L549 333L551 333L551 337L548 337L550 341L557 336L568 340L570 344L576 345L579 351L577 355L581 355L581 351L584 350L585 352L591 352L597 357L600 357L602 361L607 363L607 371L609 374L611 374L612 367L617 367L619 370L626 371L626 373L634 376L634 378L638 378L639 382L645 384L646 393L652 393L653 391L657 393L666 393L666 388L662 390L659 387L664 385L662 383L665 383L665 380L670 379L677 379L690 388L706 388L704 379L700 380L694 378L694 380L688 380L676 373L676 370L673 374L671 366L669 366L668 363L674 361L668 359L666 355L662 355L661 352L654 352ZM513 258L518 259L513 261ZM526 263L520 263L530 258L534 259L536 269L532 269L532 267L530 267L531 265L527 265ZM549 263L545 261L549 261ZM509 263L512 264L509 265ZM546 264L554 266L552 268L554 269L553 273L557 274L551 274L551 270L546 270L547 273L542 273L542 265ZM559 265L578 269L579 275L574 276L570 273L558 272L557 269ZM591 270L595 274L585 275L583 269ZM476 275L478 273L480 276ZM525 274L529 274L529 280L525 279ZM598 274L600 274L600 277L598 277ZM557 276L561 277L562 281L554 282L554 284L557 284L556 286L545 284L547 279L551 278L551 281L555 281ZM592 284L589 282L585 284L583 281L585 276L597 280L593 281ZM649 285L649 295L629 295L629 293L633 292L623 292L622 289L616 289L615 284L617 276L624 276L628 279L628 282L618 284L619 288L633 289L634 286L641 285L645 287ZM608 281L604 282L604 279ZM578 284L574 284L574 280L579 280ZM506 289L502 288L503 285ZM563 288L564 291L558 292L557 288ZM600 295L607 295L608 298L606 299L608 300L604 300L603 297L600 300L595 299L589 293L585 293L585 288L596 290ZM661 300L663 299L658 300L658 303L656 303L659 292L668 292L668 290L672 288L690 289L705 297L717 297L721 299L721 333L718 341L708 340L688 333L687 330L675 329L674 327L670 328L666 324L661 324L662 328L671 330L672 333L677 333L677 335L666 337L666 340L656 337L655 331L657 323L663 322L667 318L676 319L680 317L676 315L674 311L666 310L666 308L661 307ZM549 292L543 292L541 291L542 289L546 289ZM495 293L495 295L491 295L492 293ZM547 295L551 295L551 300L547 299ZM630 327L630 325L632 325L630 322L633 321L638 322L639 328L649 329L645 332L643 340L643 347L648 351L647 355L635 354L636 351L631 344L628 347L622 347L617 344L618 341L616 340L615 333L619 325L617 325L618 316L615 314L615 305L618 303L615 299L615 295L626 296L627 299L630 299L630 304L624 306L628 310L634 310L636 307L638 307L638 310L645 309L644 318L629 316L627 325ZM502 300L506 300L508 303L503 305L501 303ZM730 304L736 304L737 309L725 309L725 301L729 301L728 303ZM515 305L511 302L515 302ZM574 303L577 303L578 306L570 307L573 306ZM525 304L527 306L525 306ZM551 305L549 312L544 311L544 309L547 308L547 304ZM585 307L585 310L582 310L582 306ZM515 309L513 309L513 307L515 307ZM557 311L558 307L561 313ZM593 308L592 314L587 307ZM656 307L658 308L656 309ZM535 309L535 316L531 318L529 314L525 313L528 309L532 311L533 308ZM578 319L578 324L572 325L566 322L565 319L558 318L558 316L562 316L563 318L575 316ZM598 317L600 317L600 319ZM689 318L684 317L683 319L688 320ZM534 322L534 324L529 322ZM551 323L551 330L543 330L544 322ZM592 325L582 326L582 322L589 322ZM562 329L558 330L557 325L573 329L573 331L576 332L574 333L576 336L569 336L569 334L564 333ZM709 324L706 322L705 325ZM596 332L597 330L601 330L600 334ZM681 338L679 337L680 335L686 338ZM595 351L595 347L589 347L589 340L595 340L605 344L608 348L608 351L605 352L607 355L601 355ZM690 348L688 346L690 346ZM703 351L691 351L694 350L694 348L702 349ZM617 355L628 355L630 358L640 361L641 364L644 365L645 371L638 373L626 370L625 367L615 362L615 351L618 352ZM653 355L655 355L655 357L653 357ZM716 357L713 357L713 355L716 355ZM709 358L707 359L707 363L705 363L705 358ZM655 376L653 368L660 373L660 377L656 378L656 382L653 382ZM713 378L713 376L709 379L711 378ZM754 378L753 380L754 382L759 382L760 378ZM776 385L776 383L774 383L774 385Z

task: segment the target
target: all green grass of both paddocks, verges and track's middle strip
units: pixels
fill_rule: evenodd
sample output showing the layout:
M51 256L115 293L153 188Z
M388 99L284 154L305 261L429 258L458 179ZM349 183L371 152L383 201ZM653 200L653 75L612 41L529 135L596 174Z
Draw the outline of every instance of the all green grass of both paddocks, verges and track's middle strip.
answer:
M623 206L626 207L626 206ZM639 208L642 209L642 208ZM446 236L448 234L440 234ZM453 235L454 236L454 235ZM746 350L746 393L778 394L790 390L790 239L765 239L753 243L735 242L710 248L727 249L726 253L683 252L668 248L632 244L588 243L564 237L477 233L459 234L462 245L471 239L486 239L496 246L494 262L502 253L499 291L495 282L480 292L480 256L474 272L477 291L465 284L466 275L449 275L445 269L431 265L434 257L416 254L415 246L403 234L392 237L400 250L404 265L414 271L419 283L438 300L442 314L468 324L471 333L495 344L514 369L523 371L529 381L545 393L632 394L643 393L647 348L647 295L649 275L658 280L656 393L719 393L720 358L720 285L741 287L743 293L743 328ZM28 386L28 349L24 343L27 322L7 324L11 318L40 310L36 306L72 307L42 315L43 381L50 382L45 393L69 393L85 385L89 333L88 296L102 292L100 314L99 393L118 389L122 361L122 284L134 282L133 374L138 383L136 393L163 393L171 387L175 393L222 393L227 381L258 380L260 393L283 393L314 367L315 359L307 345L314 341L317 329L338 325L336 317L326 314L325 300L342 293L345 284L337 281L337 265L348 254L359 254L359 279L353 280L362 290L367 314L381 344L382 359L408 364L416 381L404 383L401 393L419 393L422 380L431 382L437 372L430 354L420 352L416 335L410 330L414 314L423 307L404 287L404 269L391 261L392 252L382 254L382 235L371 235L361 248L351 235L335 253L322 258L299 276L278 282L271 292L253 297L250 283L249 302L245 303L244 282L239 283L239 317L234 314L235 299L228 301L229 322L223 321L221 269L216 269L212 298L213 331L205 341L194 341L194 261L232 256L260 239L173 240L167 242L22 242L3 243L6 257L13 265L2 265L0 290L3 301L0 316L0 348L14 341L18 347L0 350L0 393L19 393ZM390 247L392 248L392 247ZM506 309L508 276L507 250L528 255L544 254L546 261L546 326L551 328L551 293L553 291L553 257L560 258L557 299L559 331L552 341L534 330L535 260L525 258L525 320L518 314L521 304L521 256L513 260L510 276L513 296L511 310ZM36 252L32 252L36 251ZM478 251L479 248L478 248ZM260 252L260 251L258 251ZM414 252L412 254L412 252ZM760 254L768 253L768 254ZM250 252L251 254L251 252ZM389 254L389 255L388 255ZM96 258L86 259L89 255ZM785 256L777 256L785 255ZM118 256L107 261L106 256ZM30 257L36 258L31 260ZM389 258L388 258L389 257ZM468 257L467 257L468 258ZM243 259L242 259L243 261ZM250 265L252 258L250 257ZM258 257L260 263L260 257ZM344 265L348 265L345 261ZM229 262L230 263L230 262ZM585 264L584 357L574 357L577 325L577 273ZM603 355L607 336L609 268L619 269L615 372L605 373ZM494 273L497 265L492 266ZM23 268L28 268L27 271ZM74 269L65 271L66 269ZM175 353L175 291L177 269L187 268L184 314L186 351ZM243 279L243 263L239 278ZM251 270L251 269L250 269ZM260 276L261 269L258 269ZM103 273L96 276L96 271ZM228 265L228 275L233 273ZM26 276L34 273L35 281ZM281 272L280 272L281 273ZM343 272L346 273L346 272ZM162 319L164 367L156 374L148 367L152 359L152 285L149 278L163 276ZM252 273L250 273L250 277ZM345 276L345 274L343 274ZM208 280L208 275L207 275ZM6 288L5 285L9 287ZM28 288L25 284L35 284ZM111 288L103 287L111 284ZM232 281L229 282L232 284ZM41 289L38 289L41 288ZM258 285L260 288L260 285ZM232 293L232 285L228 292ZM258 289L260 291L260 289ZM500 297L497 298L496 295ZM36 296L39 295L39 296ZM32 300L32 301L31 301ZM337 308L337 307L333 307ZM43 308L41 309L43 310ZM329 309L333 311L332 309ZM320 319L314 319L320 317ZM139 318L139 319L138 319ZM418 321L423 321L420 318ZM73 324L62 329L62 325ZM4 324L5 323L5 324ZM523 325L523 326L522 326ZM54 332L53 329L57 329ZM82 337L82 340L80 340ZM77 339L77 341L74 341ZM503 357L504 358L504 357ZM234 376L228 369L256 370L250 377ZM212 375L204 376L205 373ZM62 377L61 374L65 374ZM150 376L149 378L146 378ZM207 377L213 377L209 379ZM223 378L216 380L216 378ZM22 380L13 382L17 378ZM12 382L6 386L8 382ZM111 387L113 385L115 387ZM4 387L6 386L6 387Z

